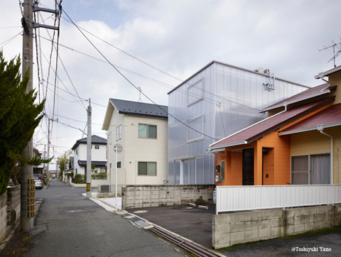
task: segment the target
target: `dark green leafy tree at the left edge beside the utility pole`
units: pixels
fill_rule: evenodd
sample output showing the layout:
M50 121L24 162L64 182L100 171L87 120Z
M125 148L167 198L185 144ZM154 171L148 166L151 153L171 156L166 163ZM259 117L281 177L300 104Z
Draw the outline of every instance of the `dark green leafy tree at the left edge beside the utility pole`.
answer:
M21 81L20 66L19 57L6 62L0 51L0 195L6 192L16 161L21 164L40 161L25 158L22 153L43 118L45 101L35 104L34 90L26 94L29 73Z

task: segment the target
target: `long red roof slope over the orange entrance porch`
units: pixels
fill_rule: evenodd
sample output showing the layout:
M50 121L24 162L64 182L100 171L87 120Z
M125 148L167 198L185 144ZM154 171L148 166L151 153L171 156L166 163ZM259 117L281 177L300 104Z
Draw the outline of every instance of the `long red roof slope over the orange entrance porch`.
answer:
M332 101L334 101L335 97L329 97L328 99L323 99L318 102L313 102L310 104L305 104L303 106L298 106L293 109L289 109L287 111L281 111L274 116L270 116L267 119L259 121L258 123L251 125L247 128L244 128L242 131L238 131L226 138L223 138L220 141L212 143L208 147L208 151L217 150L220 148L225 148L229 146L239 146L247 143L251 143L266 134L275 131L283 125L294 121L301 116L304 116L315 109L324 106Z

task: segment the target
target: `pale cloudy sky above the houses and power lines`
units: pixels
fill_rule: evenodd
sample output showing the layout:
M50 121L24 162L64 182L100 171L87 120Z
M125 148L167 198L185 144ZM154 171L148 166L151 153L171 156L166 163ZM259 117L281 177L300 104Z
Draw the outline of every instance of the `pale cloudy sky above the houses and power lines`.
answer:
M6 60L22 51L20 2L0 0ZM52 30L36 31L33 53L37 101L47 99L33 146L47 150L47 117L58 119L50 125L55 158L86 137L88 99L92 134L107 138L102 124L109 98L168 105L167 93L212 60L249 70L264 67L314 87L323 84L315 75L334 65L329 46L341 43L338 0L64 0L61 5L58 62ZM40 0L39 6L55 9L55 1ZM53 26L55 16L39 12L36 21ZM341 58L335 62L341 65Z

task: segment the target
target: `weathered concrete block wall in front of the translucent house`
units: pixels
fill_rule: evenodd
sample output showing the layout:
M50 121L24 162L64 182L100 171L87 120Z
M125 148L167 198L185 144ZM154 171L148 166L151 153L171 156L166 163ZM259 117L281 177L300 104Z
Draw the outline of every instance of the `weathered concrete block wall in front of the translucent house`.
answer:
M126 185L122 209L212 203L215 185Z

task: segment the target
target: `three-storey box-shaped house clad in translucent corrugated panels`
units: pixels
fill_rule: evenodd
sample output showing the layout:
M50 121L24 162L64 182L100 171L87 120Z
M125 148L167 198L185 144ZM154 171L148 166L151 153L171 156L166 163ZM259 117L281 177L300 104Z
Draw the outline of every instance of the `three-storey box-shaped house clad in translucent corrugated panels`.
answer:
M212 61L168 92L168 183L214 184L216 155L207 146L267 117L261 109L308 89Z

